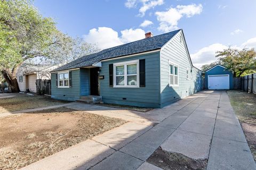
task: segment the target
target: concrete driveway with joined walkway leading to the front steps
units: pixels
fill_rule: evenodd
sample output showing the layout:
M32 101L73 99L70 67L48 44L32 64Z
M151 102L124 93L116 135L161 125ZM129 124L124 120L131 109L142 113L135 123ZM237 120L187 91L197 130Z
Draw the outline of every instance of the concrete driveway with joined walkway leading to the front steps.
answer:
M207 169L256 169L225 91L199 92L147 113L85 104L68 107L129 123L22 169L159 170L146 162L159 146L209 159Z

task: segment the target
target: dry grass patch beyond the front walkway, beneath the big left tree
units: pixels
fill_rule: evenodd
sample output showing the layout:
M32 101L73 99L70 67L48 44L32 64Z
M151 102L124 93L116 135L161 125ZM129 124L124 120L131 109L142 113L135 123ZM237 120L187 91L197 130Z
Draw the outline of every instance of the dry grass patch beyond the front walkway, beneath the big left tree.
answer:
M49 96L29 96L26 94L16 94L15 97L12 98L0 99L0 114L30 108L61 105L65 103L67 103L67 101L54 100Z

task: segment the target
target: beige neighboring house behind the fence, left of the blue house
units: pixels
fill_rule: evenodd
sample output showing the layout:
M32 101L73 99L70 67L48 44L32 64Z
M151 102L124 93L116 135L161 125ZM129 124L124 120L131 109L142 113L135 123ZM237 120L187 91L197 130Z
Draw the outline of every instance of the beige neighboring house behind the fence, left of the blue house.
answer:
M37 79L51 79L51 70L56 69L58 66L38 66L29 63L23 63L19 66L17 71L17 81L20 91L36 92Z

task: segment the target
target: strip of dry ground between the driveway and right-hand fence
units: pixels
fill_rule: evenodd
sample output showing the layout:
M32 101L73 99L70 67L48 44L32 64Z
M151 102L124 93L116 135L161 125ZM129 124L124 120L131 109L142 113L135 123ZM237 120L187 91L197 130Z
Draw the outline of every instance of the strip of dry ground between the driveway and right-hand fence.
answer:
M256 161L256 95L238 90L227 92Z

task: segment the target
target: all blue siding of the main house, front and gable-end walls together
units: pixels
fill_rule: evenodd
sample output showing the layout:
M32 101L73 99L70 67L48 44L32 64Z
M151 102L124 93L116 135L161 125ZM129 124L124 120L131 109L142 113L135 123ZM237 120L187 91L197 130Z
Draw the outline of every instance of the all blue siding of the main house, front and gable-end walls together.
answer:
M202 90L202 72L191 66L180 31L161 52L103 61L99 80L100 96L105 103L159 108ZM182 36L183 37L183 36ZM109 64L145 59L146 87L109 87ZM179 65L179 86L169 86L169 61ZM189 79L187 80L187 70ZM90 95L90 69L72 71L73 86L57 88L52 74L52 98L74 101ZM126 99L124 99L126 98Z

